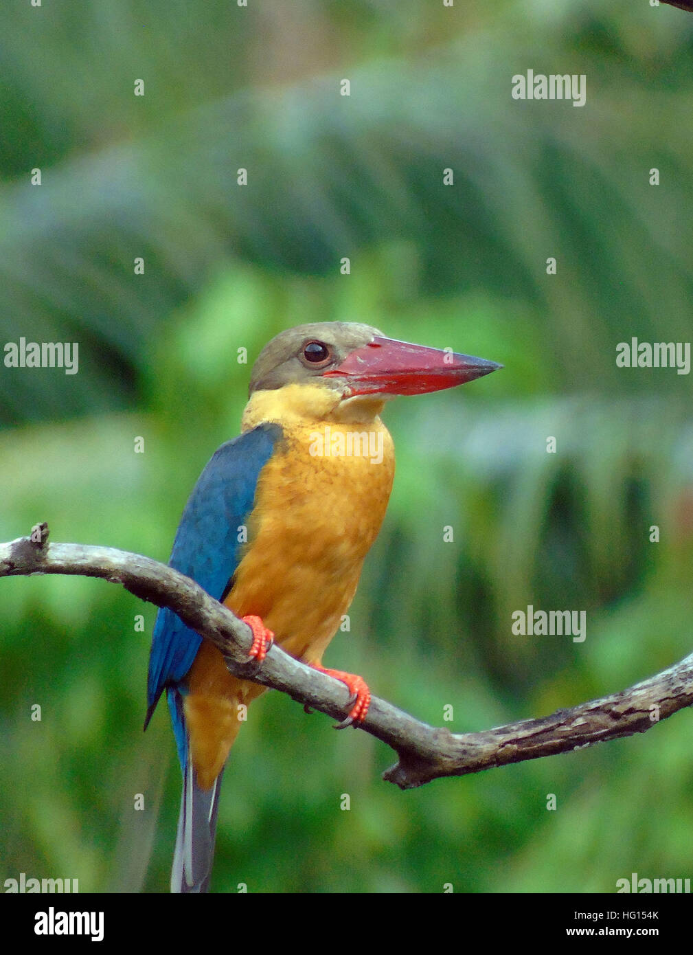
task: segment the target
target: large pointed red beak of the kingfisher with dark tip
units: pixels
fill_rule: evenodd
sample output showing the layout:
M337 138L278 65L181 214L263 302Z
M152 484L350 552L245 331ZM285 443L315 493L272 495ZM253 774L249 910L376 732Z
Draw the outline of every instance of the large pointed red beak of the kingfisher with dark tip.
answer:
M350 396L425 394L463 385L502 367L485 358L376 335L364 348L348 354L339 368L326 371L324 377L345 378Z

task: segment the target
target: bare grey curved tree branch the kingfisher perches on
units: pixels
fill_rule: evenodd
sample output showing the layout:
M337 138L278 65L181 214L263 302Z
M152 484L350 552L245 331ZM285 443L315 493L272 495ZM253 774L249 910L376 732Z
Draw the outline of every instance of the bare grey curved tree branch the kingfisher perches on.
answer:
M0 544L0 577L78 574L122 584L141 600L171 607L188 626L219 647L234 675L282 690L338 719L348 710L344 684L305 666L281 647L272 647L261 666L248 662L250 627L166 564L114 547L49 544L47 540L48 525L37 524L31 538ZM399 757L384 778L401 789L411 789L440 776L479 773L645 732L691 704L693 654L620 693L484 732L452 733L431 727L377 697L372 698L366 721L359 726L387 743Z

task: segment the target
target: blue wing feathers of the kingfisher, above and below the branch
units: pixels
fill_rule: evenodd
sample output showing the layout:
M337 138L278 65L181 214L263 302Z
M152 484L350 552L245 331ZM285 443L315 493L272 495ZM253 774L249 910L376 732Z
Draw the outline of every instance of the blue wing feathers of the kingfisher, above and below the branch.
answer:
M173 545L170 565L221 600L239 562L239 526L253 509L263 466L282 437L277 424L262 424L215 452L190 495ZM175 687L192 667L202 638L168 607L158 611L149 657L145 728L165 687ZM171 704L173 701L169 701ZM184 765L185 732L171 706Z

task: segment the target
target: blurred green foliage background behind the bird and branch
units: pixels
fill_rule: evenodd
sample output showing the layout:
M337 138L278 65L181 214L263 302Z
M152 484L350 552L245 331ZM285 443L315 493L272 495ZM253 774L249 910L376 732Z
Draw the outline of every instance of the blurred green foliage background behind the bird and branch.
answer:
M167 560L201 468L238 431L237 349L252 362L281 329L356 320L505 370L388 409L389 513L328 666L435 725L452 704L463 732L690 651L690 376L615 358L631 336L690 339L693 15L71 0L6 5L0 27L0 343L79 343L76 375L0 368L0 540L48 520L53 541ZM586 106L513 100L529 68L586 74ZM528 604L586 610L586 641L514 636ZM154 617L102 582L0 582L0 881L167 890L164 706L141 732ZM226 772L213 889L690 876L691 719L401 793L380 779L386 747L267 693Z

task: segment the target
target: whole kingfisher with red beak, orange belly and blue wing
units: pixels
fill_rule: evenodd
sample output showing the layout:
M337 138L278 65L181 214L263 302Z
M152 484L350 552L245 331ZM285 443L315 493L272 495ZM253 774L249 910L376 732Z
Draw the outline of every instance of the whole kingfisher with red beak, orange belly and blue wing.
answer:
M380 419L398 394L452 388L502 366L386 338L352 322L276 335L250 377L242 433L221 445L188 499L170 565L253 632L351 692L341 727L363 722L360 677L322 666L388 506L392 439ZM217 810L245 707L265 688L232 676L221 652L168 607L158 611L146 729L166 690L183 775L172 892L209 888Z

